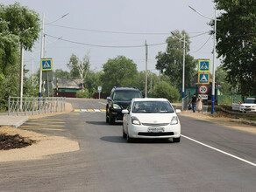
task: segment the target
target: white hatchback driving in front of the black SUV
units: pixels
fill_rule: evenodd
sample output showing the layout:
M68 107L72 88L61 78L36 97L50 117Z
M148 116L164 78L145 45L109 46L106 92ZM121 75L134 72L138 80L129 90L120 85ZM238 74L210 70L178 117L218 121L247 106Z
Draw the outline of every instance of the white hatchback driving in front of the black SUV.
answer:
M181 124L174 107L167 99L136 98L130 106L122 110L123 138L169 139L181 141Z

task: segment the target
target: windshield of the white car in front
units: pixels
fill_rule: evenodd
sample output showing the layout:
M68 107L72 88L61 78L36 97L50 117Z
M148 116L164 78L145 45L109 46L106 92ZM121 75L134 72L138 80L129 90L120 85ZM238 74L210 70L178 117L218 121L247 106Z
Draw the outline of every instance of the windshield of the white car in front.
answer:
M135 101L132 113L174 113L174 108L167 101Z

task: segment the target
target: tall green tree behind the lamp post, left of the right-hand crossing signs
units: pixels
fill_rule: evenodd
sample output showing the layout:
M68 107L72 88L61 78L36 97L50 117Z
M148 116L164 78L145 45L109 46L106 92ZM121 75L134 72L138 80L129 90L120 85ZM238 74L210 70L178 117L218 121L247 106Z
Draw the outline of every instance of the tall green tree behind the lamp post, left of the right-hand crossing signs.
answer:
M167 50L156 56L156 69L170 77L173 86L180 88L183 72L183 44L177 38L186 37L185 86L191 86L191 79L196 72L196 60L188 54L190 41L185 31L173 31L174 36L167 38ZM175 38L176 37L176 38Z

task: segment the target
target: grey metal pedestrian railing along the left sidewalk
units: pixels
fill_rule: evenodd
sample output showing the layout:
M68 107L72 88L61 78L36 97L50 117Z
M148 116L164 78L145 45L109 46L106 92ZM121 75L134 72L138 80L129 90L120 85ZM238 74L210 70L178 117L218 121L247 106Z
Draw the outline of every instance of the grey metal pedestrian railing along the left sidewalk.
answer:
M40 114L65 111L66 98L22 98L9 97L8 115Z

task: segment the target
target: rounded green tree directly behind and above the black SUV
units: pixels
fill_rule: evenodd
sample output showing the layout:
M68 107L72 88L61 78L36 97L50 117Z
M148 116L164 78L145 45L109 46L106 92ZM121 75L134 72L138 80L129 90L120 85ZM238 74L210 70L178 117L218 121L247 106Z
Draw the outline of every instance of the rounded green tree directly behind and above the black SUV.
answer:
M137 65L132 59L124 56L109 59L103 65L103 92L110 93L113 86L136 86L137 73Z

